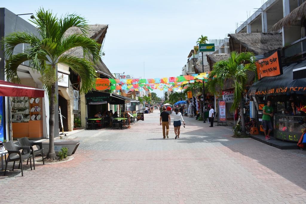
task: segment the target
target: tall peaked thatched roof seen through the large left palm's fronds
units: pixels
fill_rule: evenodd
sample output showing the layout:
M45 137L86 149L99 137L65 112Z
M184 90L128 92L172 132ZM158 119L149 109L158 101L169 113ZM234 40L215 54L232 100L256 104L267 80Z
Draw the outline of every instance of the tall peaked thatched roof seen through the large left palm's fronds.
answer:
M105 38L107 28L108 28L108 25L104 25L104 24L89 25L88 34L86 34L86 36L88 38L95 39L98 43L101 44L103 43L103 39ZM76 27L69 28L65 32L65 36L69 36L73 34L82 35L82 32L79 28L76 28ZM82 47L74 47L68 50L67 52L65 52L65 54L71 54L79 58L84 57L84 52L83 52ZM105 75L105 76L108 76L114 79L114 76L112 75L110 70L106 67L106 65L103 63L102 60L95 63L95 69L98 71L99 74L102 74L102 75Z

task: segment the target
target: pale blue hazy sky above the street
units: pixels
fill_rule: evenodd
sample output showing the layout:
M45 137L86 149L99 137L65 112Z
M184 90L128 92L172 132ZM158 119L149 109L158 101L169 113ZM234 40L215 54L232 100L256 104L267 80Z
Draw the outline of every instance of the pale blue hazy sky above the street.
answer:
M263 0L2 1L15 14L39 7L58 15L77 13L88 24L108 24L103 61L112 73L134 78L179 76L201 35L224 39ZM29 15L20 16L26 20ZM162 91L155 91L159 96Z

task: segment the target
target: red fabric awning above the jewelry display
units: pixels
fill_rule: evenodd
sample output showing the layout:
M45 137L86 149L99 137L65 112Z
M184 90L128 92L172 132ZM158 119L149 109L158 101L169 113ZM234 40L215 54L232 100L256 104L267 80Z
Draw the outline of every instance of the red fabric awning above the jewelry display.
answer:
M0 96L44 97L45 90L0 80Z

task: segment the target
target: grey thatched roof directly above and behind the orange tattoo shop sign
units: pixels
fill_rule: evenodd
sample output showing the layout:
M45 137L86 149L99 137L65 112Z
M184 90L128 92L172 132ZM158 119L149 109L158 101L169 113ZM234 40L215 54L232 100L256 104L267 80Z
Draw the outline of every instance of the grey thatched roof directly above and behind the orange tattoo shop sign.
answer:
M235 33L230 37L230 51L260 55L282 47L281 33Z

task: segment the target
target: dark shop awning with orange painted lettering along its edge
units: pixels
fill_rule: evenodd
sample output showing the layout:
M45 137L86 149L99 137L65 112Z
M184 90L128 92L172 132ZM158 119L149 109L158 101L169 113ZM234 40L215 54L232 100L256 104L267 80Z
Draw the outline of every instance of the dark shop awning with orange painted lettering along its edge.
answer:
M283 67L280 76L265 77L254 83L248 95L285 95L290 93L305 94L306 78L293 80L293 70L306 66L306 61Z

